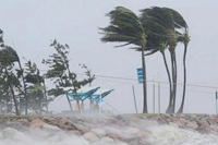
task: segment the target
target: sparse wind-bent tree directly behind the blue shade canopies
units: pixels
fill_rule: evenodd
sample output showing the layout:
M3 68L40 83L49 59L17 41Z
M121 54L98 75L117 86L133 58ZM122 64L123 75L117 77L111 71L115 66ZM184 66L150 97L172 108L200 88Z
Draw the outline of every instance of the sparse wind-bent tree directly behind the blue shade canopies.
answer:
M81 86L90 83L94 78L85 78L83 81L77 81L76 74L70 70L70 60L68 56L70 55L70 47L68 45L61 45L56 39L51 43L50 47L53 47L56 52L49 56L49 59L43 60L44 64L49 67L46 72L46 78L49 78L56 85L55 88L48 90L49 96L58 97L65 94L63 87L73 87L73 92L76 94ZM69 106L73 110L69 96L66 95ZM78 96L76 97L76 102L80 109Z

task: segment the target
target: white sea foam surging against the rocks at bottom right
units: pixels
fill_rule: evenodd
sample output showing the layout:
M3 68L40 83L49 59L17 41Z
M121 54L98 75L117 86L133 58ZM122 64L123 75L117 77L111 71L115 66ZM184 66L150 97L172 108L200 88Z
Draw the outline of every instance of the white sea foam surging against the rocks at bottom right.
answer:
M152 145L218 145L218 136L179 129L172 125L159 125L148 129L148 142Z

